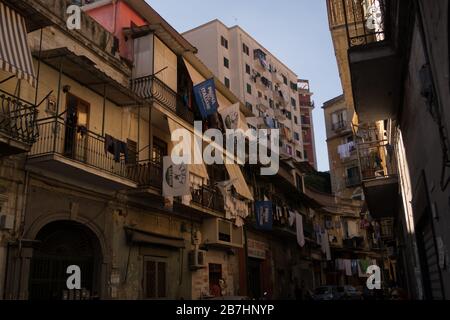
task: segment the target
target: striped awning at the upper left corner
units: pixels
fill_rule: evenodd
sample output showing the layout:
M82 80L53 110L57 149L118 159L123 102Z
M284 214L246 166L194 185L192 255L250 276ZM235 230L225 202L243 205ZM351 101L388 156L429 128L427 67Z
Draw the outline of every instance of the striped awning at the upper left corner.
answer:
M0 2L0 69L36 86L25 19Z

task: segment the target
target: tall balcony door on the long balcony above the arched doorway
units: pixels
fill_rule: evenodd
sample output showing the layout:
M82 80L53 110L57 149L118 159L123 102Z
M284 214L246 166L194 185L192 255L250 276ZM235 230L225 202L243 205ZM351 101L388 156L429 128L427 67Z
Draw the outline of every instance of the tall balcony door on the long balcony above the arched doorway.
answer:
M89 109L86 101L67 95L64 155L81 162L87 161Z

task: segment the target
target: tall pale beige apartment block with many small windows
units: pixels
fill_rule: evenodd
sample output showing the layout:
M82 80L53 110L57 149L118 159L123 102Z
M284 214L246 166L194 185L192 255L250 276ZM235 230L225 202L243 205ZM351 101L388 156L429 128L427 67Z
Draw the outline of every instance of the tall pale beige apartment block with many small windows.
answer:
M303 161L297 75L239 26L213 20L183 33L198 56L253 113L254 128L281 129L280 152Z

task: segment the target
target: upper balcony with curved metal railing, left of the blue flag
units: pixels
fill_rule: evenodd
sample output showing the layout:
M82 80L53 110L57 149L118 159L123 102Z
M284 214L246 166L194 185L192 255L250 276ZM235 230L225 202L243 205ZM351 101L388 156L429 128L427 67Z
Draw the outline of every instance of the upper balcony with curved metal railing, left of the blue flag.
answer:
M155 76L136 78L130 82L131 89L141 98L154 101L189 123L194 122L193 111L183 98Z

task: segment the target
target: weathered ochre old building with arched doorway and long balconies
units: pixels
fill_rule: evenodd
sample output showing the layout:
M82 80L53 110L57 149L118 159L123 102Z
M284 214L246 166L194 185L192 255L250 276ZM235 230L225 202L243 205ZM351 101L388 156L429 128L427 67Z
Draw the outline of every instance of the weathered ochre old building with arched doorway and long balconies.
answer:
M67 30L70 2L0 4L39 23L27 20L20 38L35 71L1 71L3 297L197 299L221 279L224 295L237 294L231 253L243 248L243 227L224 198L245 216L252 195L239 166L190 166L190 195L162 194L170 133L193 132L196 119L181 95L212 77L195 48L143 1L84 7L78 31ZM136 50L97 22L114 5ZM239 103L219 82L216 94L222 107ZM224 179L239 184L233 194L217 189ZM65 288L68 265L80 267L82 290Z

